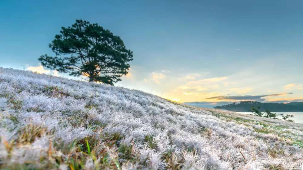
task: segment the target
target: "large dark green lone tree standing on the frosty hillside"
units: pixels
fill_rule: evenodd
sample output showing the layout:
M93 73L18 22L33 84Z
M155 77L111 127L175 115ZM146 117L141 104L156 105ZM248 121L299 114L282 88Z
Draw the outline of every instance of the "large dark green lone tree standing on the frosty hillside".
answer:
M132 51L119 36L82 20L62 27L49 47L57 56L42 55L38 59L42 66L71 76L87 76L90 82L113 85L121 81L120 77L128 73L128 62L133 60Z

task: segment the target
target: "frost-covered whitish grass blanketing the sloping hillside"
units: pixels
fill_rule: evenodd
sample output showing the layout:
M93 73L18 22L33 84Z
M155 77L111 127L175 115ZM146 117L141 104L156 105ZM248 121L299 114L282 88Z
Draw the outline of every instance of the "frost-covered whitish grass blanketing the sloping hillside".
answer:
M303 126L0 68L0 169L299 169Z

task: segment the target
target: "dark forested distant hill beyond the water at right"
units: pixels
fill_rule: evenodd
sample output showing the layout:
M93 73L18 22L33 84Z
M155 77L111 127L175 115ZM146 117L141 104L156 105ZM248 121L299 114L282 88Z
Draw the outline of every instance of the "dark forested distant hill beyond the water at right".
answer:
M291 102L291 103L261 103L254 101L244 101L240 103L231 103L223 106L215 106L215 109L230 110L234 112L248 112L251 110L251 106L260 106L260 111L266 109L271 112L303 112L303 102Z

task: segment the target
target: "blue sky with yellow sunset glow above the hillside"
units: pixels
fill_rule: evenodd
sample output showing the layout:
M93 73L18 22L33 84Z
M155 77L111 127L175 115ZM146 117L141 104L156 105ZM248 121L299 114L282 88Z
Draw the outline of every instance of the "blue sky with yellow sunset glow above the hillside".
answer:
M98 23L133 51L115 86L213 107L303 101L303 1L0 1L0 67L39 65L61 27ZM68 77L69 78L69 77ZM194 103L191 103L194 102Z

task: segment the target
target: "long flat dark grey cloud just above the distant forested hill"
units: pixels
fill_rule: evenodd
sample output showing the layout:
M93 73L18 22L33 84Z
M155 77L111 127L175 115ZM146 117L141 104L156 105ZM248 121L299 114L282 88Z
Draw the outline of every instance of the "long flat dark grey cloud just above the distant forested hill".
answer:
M230 101L237 101L237 100L264 101L265 99L263 97L282 96L282 95L287 95L287 94L293 94L293 93L276 93L276 94L258 95L258 96L251 96L251 95L245 95L245 96L215 96L215 97L206 98L205 100L216 99L216 100L230 100Z

